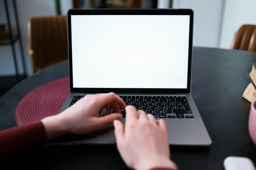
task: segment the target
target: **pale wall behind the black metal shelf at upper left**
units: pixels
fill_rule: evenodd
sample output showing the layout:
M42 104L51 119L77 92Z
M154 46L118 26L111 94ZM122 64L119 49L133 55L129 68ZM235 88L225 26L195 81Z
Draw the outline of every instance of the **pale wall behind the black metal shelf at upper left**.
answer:
M16 27L14 20L14 10L12 6L12 1L7 1L9 5L9 14L11 17L11 25ZM73 7L72 0L61 0L61 14L66 15L67 10ZM28 46L28 31L27 22L31 17L36 16L52 16L56 15L56 7L54 0L16 0L18 17L21 29L21 38L23 43L23 50L26 60L26 70L27 74L32 73L31 63L29 59L26 47ZM5 24L4 1L0 0L0 23ZM16 56L18 61L18 70L20 74L23 74L20 47L18 42L15 43ZM0 46L0 76L15 75L14 63L12 59L11 46Z

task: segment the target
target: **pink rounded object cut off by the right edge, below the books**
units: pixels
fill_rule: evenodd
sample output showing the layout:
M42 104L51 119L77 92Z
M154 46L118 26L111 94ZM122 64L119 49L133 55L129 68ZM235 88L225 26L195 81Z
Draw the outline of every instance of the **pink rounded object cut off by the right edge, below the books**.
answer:
M251 139L256 145L256 100L251 104L248 126Z

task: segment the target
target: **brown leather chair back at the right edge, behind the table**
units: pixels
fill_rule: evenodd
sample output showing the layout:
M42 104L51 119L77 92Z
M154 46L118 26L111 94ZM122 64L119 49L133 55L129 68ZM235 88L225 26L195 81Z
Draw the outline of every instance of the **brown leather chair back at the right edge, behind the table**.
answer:
M231 49L256 51L256 25L242 25L237 31Z

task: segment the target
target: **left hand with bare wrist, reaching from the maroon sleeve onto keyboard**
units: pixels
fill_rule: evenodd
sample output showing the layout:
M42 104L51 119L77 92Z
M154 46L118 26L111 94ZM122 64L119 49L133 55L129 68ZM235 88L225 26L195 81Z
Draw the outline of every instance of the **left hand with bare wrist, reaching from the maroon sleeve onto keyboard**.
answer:
M114 113L109 113L110 106ZM68 133L85 134L112 124L113 120L122 118L118 106L125 107L126 104L112 92L88 94L61 114L42 120L47 138L49 140ZM97 117L98 114L101 114L102 107L105 116Z

